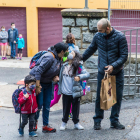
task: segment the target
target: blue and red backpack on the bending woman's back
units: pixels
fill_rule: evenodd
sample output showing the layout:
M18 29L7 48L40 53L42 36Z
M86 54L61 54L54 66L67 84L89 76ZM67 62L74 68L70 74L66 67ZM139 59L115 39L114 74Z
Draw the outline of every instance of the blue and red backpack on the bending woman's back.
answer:
M35 54L35 55L33 56L33 58L31 59L29 68L32 69L33 67L35 67L35 65L36 65L37 61L39 60L39 58L40 58L43 54L45 54L45 53L47 53L47 52L48 52L48 51L40 51L40 52L38 52L37 54Z

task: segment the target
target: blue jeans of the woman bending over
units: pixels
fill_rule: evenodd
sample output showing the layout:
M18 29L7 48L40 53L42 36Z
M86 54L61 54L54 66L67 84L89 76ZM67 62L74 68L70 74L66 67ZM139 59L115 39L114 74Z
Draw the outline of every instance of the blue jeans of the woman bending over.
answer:
M52 83L44 84L40 83L42 86L41 93L37 95L38 111L35 115L35 120L38 120L40 110L42 110L43 125L46 126L49 124L49 112L50 112L50 103L52 97Z

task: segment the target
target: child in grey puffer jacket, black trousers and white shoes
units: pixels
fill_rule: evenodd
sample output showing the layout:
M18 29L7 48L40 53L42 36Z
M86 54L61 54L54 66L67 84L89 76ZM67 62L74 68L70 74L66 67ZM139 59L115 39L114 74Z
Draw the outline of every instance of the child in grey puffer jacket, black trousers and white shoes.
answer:
M80 100L81 96L83 96L80 80L87 80L90 75L80 61L80 54L76 51L72 51L68 55L68 62L63 64L60 71L58 95L63 94L63 118L60 130L66 129L71 104L74 128L78 130L84 129L84 127L79 124ZM81 70L80 73L78 72L79 69Z

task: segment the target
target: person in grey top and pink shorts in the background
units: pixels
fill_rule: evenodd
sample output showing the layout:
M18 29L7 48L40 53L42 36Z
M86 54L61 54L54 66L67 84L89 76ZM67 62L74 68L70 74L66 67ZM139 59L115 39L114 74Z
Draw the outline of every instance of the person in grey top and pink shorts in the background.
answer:
M7 39L8 39L8 32L5 31L5 27L2 26L0 31L0 46L1 46L2 60L7 59L6 58Z

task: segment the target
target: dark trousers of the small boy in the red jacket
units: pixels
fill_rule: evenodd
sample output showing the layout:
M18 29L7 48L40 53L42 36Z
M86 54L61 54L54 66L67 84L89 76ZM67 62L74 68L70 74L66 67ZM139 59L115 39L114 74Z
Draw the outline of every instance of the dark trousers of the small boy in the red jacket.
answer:
M25 125L28 123L28 118L29 118L29 132L32 132L34 121L35 121L35 113L22 114L21 128L24 129Z

